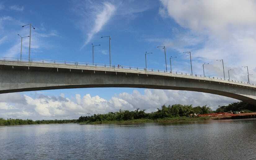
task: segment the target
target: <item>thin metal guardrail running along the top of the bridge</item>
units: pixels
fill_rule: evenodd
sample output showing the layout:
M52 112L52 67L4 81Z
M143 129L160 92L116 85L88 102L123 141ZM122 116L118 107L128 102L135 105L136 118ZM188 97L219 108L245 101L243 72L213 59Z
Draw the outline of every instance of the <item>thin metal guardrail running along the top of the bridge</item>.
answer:
M237 84L247 84L251 86L255 86L253 83L242 82L237 80L223 79L219 77L211 77L211 76L202 76L200 74L191 74L191 73L183 73L183 72L170 72L161 69L149 69L142 67L132 67L132 66L124 66L124 65L110 65L110 64L96 64L96 63L85 63L85 62L73 62L73 61L63 61L63 60L43 60L43 59L28 59L28 58L12 58L12 57L0 57L2 61L14 61L14 62L34 62L34 63L47 63L47 64L65 64L65 65L78 65L78 66L92 66L92 67L106 67L106 68L119 68L119 69L131 69L131 70L144 70L148 72L161 72L168 74L178 74L192 77L204 77L208 79L218 79L226 82L235 82Z

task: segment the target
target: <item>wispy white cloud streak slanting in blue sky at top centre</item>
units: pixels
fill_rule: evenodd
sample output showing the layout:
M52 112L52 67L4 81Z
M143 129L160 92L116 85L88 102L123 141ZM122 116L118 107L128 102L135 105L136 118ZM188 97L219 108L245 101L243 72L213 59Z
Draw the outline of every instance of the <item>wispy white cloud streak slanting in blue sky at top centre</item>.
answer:
M87 34L88 38L84 45L91 41L94 34L98 33L102 27L110 20L115 12L115 6L109 2L104 3L103 10L96 14L96 19L94 21L94 26L91 31Z

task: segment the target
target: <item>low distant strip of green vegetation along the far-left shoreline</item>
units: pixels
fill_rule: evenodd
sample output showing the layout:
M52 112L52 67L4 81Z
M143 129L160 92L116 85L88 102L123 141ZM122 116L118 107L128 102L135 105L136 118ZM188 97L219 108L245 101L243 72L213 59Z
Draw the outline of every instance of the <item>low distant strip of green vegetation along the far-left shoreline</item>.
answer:
M37 120L31 119L3 119L0 118L0 126L15 126L15 125L29 125L29 124L62 124L62 123L76 123L77 119L72 120Z

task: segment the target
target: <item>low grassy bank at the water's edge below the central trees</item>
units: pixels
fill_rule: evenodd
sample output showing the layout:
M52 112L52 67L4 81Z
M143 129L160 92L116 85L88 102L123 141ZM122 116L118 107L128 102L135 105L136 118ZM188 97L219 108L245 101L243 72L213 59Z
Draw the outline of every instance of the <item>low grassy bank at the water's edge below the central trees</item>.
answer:
M189 122L189 121L202 121L209 120L210 117L174 117L174 118L158 118L158 119L133 119L121 121L96 121L96 122L79 122L79 124L132 124L132 123L171 123L171 122Z

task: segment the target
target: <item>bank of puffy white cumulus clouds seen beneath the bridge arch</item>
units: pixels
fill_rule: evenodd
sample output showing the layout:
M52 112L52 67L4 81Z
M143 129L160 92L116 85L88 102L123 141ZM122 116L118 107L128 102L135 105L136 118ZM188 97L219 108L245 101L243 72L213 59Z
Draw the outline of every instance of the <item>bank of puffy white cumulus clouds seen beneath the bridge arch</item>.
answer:
M192 94L191 94L192 93ZM0 95L0 117L31 119L76 119L81 115L117 112L122 110L145 109L154 112L163 104L208 104L213 109L237 100L207 93L191 91L145 89L144 94L134 90L131 94L120 93L106 100L99 96L74 95L71 100L62 93L60 96L37 95L34 98L20 93Z

